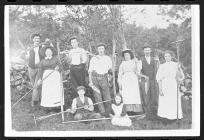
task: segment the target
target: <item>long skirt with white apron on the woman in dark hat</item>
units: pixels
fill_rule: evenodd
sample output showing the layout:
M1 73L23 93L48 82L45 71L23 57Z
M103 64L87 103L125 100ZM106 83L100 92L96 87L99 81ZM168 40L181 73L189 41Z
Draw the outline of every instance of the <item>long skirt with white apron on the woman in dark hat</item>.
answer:
M138 77L134 72L126 72L122 77L122 97L127 111L142 111Z

